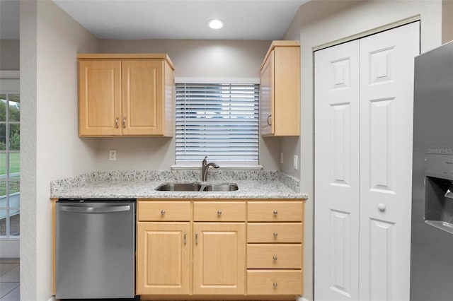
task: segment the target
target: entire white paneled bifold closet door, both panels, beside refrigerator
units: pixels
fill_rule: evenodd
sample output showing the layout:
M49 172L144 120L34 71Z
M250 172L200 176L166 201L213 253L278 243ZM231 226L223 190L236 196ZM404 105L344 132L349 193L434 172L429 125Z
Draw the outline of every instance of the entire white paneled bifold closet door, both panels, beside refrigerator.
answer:
M315 53L315 300L409 299L419 32Z

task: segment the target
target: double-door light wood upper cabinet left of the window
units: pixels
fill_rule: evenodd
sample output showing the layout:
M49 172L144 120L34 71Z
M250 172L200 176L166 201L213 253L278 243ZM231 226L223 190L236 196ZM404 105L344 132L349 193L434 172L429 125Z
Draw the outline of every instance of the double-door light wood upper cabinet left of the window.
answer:
M78 54L79 136L173 136L167 54Z

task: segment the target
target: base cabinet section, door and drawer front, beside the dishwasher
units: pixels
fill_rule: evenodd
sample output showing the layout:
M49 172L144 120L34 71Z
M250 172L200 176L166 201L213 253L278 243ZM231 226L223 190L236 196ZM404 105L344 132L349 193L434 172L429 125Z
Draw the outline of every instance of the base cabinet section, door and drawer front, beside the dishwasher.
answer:
M138 202L137 295L189 293L189 221L189 201Z

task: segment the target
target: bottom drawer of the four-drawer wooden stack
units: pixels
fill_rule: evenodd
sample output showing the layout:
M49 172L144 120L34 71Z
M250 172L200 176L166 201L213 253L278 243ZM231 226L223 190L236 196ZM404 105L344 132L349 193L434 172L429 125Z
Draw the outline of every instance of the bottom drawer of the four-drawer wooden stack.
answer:
M248 270L247 295L303 295L302 270Z

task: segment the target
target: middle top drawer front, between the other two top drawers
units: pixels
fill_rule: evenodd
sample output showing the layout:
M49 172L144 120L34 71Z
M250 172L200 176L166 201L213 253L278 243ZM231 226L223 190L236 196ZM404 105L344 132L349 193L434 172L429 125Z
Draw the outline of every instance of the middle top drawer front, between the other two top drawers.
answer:
M244 201L195 201L193 220L197 222L243 222L246 220Z

